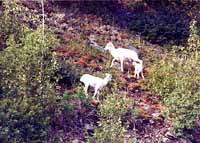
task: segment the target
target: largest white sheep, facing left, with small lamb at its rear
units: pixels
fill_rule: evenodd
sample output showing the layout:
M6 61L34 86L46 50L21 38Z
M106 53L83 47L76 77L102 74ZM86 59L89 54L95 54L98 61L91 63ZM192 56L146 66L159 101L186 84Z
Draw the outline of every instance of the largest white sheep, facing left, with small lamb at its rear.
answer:
M115 60L118 60L121 62L121 71L124 71L123 68L123 62L124 60L133 60L136 62L141 63L142 60L138 58L137 52L130 50L130 49L124 49L124 48L115 48L112 42L108 42L105 46L105 50L108 50L110 54L113 56L112 63L110 67L113 66L113 63Z

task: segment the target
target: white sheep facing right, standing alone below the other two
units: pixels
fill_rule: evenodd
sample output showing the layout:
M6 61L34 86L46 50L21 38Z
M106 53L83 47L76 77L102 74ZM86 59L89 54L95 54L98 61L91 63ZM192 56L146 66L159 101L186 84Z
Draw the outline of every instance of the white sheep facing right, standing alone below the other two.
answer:
M104 79L99 78L99 77L95 77L93 75L90 74L84 74L81 76L80 81L84 83L85 87L84 87L84 91L85 91L85 95L88 95L87 90L88 87L94 87L94 94L93 94L93 98L99 94L99 90L101 90L104 86L106 86L108 84L109 81L111 81L112 75L106 73L105 74L106 77ZM98 97L99 99L99 97Z

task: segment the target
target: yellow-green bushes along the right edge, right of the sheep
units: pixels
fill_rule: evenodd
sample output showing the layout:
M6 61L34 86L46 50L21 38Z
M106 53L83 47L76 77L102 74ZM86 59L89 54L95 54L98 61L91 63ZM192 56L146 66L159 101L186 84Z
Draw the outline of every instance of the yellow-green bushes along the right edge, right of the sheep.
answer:
M199 36L193 20L190 25L188 46L180 53L152 64L146 80L146 89L162 96L167 106L166 115L173 121L174 131L192 129L200 116L200 59Z

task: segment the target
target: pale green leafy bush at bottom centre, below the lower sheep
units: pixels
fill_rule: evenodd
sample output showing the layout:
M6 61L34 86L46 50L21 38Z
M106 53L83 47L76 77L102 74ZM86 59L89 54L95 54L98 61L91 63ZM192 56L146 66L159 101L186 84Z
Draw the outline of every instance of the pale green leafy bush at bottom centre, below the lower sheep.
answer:
M122 122L122 118L128 112L135 116L135 108L133 106L133 100L126 98L125 95L108 95L102 104L99 105L99 115L101 118L94 130L93 136L89 137L88 142L123 143L126 127L123 125L124 121ZM130 140L134 139L131 138Z

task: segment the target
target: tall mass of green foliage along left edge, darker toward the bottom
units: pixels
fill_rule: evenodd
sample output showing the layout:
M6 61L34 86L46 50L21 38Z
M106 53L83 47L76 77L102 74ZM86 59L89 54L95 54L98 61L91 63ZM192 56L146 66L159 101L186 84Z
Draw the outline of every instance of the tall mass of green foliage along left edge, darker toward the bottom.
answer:
M20 43L10 35L0 53L0 136L8 142L42 141L48 133L48 106L55 95L50 79L57 62L50 48L57 39L41 29L24 29Z

